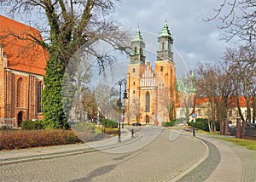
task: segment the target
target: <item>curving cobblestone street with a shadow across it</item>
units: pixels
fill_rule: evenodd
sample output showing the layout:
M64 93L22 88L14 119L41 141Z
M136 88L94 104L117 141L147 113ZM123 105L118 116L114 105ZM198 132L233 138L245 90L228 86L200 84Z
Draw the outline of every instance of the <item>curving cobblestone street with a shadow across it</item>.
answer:
M145 136L152 130L157 128L146 129ZM170 132L162 130L157 138L137 151L95 151L3 165L0 181L169 181L200 161L207 150L191 136L180 134L170 140ZM138 142L142 140L125 147Z

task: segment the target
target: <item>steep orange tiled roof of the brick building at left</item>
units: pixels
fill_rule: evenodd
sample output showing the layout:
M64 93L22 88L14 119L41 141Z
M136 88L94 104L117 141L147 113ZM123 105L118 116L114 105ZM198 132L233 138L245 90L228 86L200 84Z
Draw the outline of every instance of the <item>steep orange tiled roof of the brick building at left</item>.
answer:
M28 35L43 40L37 29L0 15L0 47L8 59L7 68L43 76L48 53L38 43L28 40Z

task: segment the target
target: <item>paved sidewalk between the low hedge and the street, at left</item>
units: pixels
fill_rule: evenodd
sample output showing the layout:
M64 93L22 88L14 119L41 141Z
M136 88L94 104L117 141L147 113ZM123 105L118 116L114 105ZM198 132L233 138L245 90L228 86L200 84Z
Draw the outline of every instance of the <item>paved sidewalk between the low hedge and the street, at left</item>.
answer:
M130 144L137 139L140 139L139 134L135 134L134 138L131 138L131 131L126 128L121 128L121 142L118 142L118 136L113 136L108 139L87 142L86 144L54 145L12 151L0 151L0 166L10 163L28 162L100 151L113 148L118 145Z

